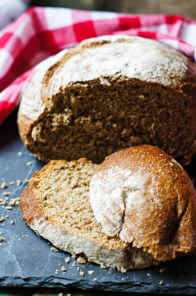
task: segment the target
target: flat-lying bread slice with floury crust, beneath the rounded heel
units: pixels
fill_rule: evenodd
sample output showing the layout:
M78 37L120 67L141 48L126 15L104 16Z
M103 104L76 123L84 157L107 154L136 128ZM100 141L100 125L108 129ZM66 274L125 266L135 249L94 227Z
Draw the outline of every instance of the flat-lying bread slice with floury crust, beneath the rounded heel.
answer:
M89 200L96 168L86 159L51 161L33 175L21 195L23 219L56 247L89 261L122 272L157 265L148 252L103 233Z

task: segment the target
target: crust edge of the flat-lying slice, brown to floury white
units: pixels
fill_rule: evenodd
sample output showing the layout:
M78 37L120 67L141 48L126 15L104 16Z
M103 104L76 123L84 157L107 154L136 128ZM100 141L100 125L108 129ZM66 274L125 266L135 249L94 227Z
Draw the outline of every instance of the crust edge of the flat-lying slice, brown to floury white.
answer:
M81 158L75 163L91 163L86 158ZM48 239L59 249L73 254L82 254L88 261L92 261L104 266L118 268L121 272L128 269L141 269L151 265L157 265L160 262L155 260L152 255L144 252L142 249L131 247L130 244L121 243L119 247L109 247L104 243L96 241L95 238L88 240L82 234L73 235L69 229L62 228L54 224L46 217L41 210L36 195L33 192L33 186L44 178L47 171L55 168L59 163L65 164L65 160L52 160L44 166L39 172L36 172L26 189L21 194L19 203L23 220L40 236Z

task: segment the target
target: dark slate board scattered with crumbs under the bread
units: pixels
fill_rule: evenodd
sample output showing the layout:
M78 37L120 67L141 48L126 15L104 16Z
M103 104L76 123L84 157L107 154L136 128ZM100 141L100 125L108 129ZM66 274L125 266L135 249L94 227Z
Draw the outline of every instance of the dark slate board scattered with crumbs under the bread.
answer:
M21 151L20 157L17 152ZM33 161L28 167L27 162ZM191 178L195 173L196 158L186 169ZM19 197L32 174L39 170L43 163L35 159L27 151L18 136L16 112L0 127L0 184L4 178L8 187L0 189L0 198L4 191L10 191L8 198ZM21 180L22 185L9 185L9 182ZM18 206L8 211L0 206L0 214L5 218L0 223L0 236L5 237L0 247L0 286L7 287L67 287L81 289L103 289L107 291L124 292L157 292L157 293L196 293L196 256L166 262L158 267L144 270L129 271L121 274L113 269L101 269L97 264L84 265L71 257L71 263L65 263L65 252L51 251L51 245L38 237L27 224L21 220ZM14 220L14 224L10 224ZM17 221L15 221L17 220ZM23 234L24 232L24 234ZM17 235L20 235L18 237ZM26 235L23 237L23 235ZM27 236L29 235L29 236ZM13 238L10 238L13 237ZM59 265L61 263L61 265ZM65 265L66 272L61 271ZM79 275L77 267L84 271ZM163 273L160 269L165 268ZM56 269L59 270L55 274ZM93 275L88 270L94 270ZM97 278L98 281L95 281ZM160 285L160 282L163 284Z

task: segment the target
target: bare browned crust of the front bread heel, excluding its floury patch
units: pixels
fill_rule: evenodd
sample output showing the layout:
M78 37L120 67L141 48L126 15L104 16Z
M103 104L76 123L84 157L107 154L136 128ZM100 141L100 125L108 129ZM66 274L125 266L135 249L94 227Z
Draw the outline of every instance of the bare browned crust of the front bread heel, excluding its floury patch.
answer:
M130 170L133 175L140 173L149 180L142 192L140 215L136 201L125 214L125 241L147 249L161 261L195 254L196 191L186 171L170 155L150 145L121 149L108 156L96 172L104 176L114 167ZM152 196L151 189L156 196ZM161 206L152 207L155 199ZM109 214L107 217L109 225Z

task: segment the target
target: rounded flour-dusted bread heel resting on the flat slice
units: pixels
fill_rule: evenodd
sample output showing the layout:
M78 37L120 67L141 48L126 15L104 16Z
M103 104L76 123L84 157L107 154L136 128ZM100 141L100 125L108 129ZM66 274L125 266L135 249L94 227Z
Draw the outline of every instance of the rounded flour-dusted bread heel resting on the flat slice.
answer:
M106 234L154 259L196 253L196 191L183 167L159 148L108 156L91 179L90 201Z

